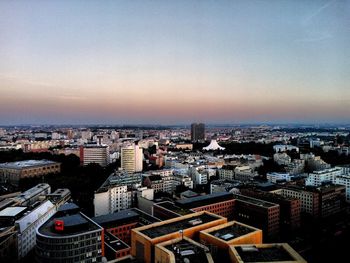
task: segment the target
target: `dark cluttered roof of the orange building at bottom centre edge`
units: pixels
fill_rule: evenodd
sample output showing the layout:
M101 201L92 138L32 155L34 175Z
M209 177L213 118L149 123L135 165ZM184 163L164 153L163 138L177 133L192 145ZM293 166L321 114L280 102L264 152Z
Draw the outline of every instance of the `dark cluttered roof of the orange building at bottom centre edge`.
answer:
M191 263L208 262L204 248L196 246L184 239L165 248L173 252L176 262L186 262L186 258L189 260L187 262Z

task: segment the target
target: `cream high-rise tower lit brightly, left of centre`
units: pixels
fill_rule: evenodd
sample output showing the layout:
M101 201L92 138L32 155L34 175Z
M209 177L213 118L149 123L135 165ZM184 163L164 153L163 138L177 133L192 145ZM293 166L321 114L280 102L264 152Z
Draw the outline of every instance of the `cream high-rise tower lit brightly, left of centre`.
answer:
M121 168L128 173L141 172L143 168L143 152L138 145L121 148Z

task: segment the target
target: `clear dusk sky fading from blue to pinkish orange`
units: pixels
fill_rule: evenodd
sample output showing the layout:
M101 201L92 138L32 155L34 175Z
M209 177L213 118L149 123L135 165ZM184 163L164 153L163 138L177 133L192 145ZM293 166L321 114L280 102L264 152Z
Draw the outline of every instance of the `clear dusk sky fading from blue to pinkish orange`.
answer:
M350 123L350 1L0 1L0 125Z

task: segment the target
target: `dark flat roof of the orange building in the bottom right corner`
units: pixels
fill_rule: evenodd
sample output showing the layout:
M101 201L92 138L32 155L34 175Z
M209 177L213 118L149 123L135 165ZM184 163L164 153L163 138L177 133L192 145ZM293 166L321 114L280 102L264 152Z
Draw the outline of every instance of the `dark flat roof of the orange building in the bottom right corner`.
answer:
M274 262L274 261L293 261L293 258L282 246L269 248L236 247L239 256L244 262Z

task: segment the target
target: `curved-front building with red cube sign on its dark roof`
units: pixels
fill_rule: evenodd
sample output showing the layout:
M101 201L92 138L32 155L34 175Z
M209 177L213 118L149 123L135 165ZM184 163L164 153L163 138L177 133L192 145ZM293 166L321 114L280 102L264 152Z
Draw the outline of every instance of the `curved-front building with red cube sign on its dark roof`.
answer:
M102 262L104 230L73 203L61 206L36 231L36 261Z

